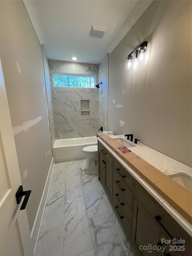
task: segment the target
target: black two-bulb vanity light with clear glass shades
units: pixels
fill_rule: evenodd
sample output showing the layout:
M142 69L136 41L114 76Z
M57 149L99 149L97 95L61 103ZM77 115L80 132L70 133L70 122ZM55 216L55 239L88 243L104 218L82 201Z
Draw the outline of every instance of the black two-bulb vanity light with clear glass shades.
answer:
M133 50L128 57L126 58L126 69L130 70L133 68L133 57L132 53L136 52L137 62L142 63L146 61L146 52L147 52L147 41L144 41L140 44L135 50Z

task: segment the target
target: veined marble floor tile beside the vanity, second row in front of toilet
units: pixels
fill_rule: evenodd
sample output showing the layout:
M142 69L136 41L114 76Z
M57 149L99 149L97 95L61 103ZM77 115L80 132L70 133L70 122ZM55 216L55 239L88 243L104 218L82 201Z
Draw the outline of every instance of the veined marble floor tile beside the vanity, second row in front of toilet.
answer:
M90 185L84 185L82 188L88 218L109 212L103 198L104 190L99 181Z

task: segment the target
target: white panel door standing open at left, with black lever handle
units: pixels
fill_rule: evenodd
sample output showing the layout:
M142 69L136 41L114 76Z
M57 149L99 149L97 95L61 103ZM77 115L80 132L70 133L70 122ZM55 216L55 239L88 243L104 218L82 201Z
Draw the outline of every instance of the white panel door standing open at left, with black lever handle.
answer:
M33 254L26 210L20 210L16 191L21 184L13 130L0 60L0 255Z

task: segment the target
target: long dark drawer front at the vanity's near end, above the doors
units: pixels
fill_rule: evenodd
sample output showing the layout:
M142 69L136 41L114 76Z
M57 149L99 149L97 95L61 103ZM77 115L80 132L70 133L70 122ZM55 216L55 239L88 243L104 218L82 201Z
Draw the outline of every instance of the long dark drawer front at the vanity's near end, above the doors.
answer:
M171 239L182 238L185 240L185 251L183 255L191 254L191 236L171 217L171 215L146 192L141 185L135 184L134 194L152 215L156 224L164 230Z

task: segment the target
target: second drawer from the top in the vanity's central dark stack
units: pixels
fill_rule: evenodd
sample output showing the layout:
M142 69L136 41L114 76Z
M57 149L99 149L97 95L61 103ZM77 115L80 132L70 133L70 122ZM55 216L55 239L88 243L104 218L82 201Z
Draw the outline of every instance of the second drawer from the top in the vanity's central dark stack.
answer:
M129 205L129 207L131 207L132 192L129 190L129 188L126 186L126 184L119 178L119 175L116 173L115 170L113 170L113 184L115 184L116 187L118 188L117 193L121 197L124 197L126 202Z

